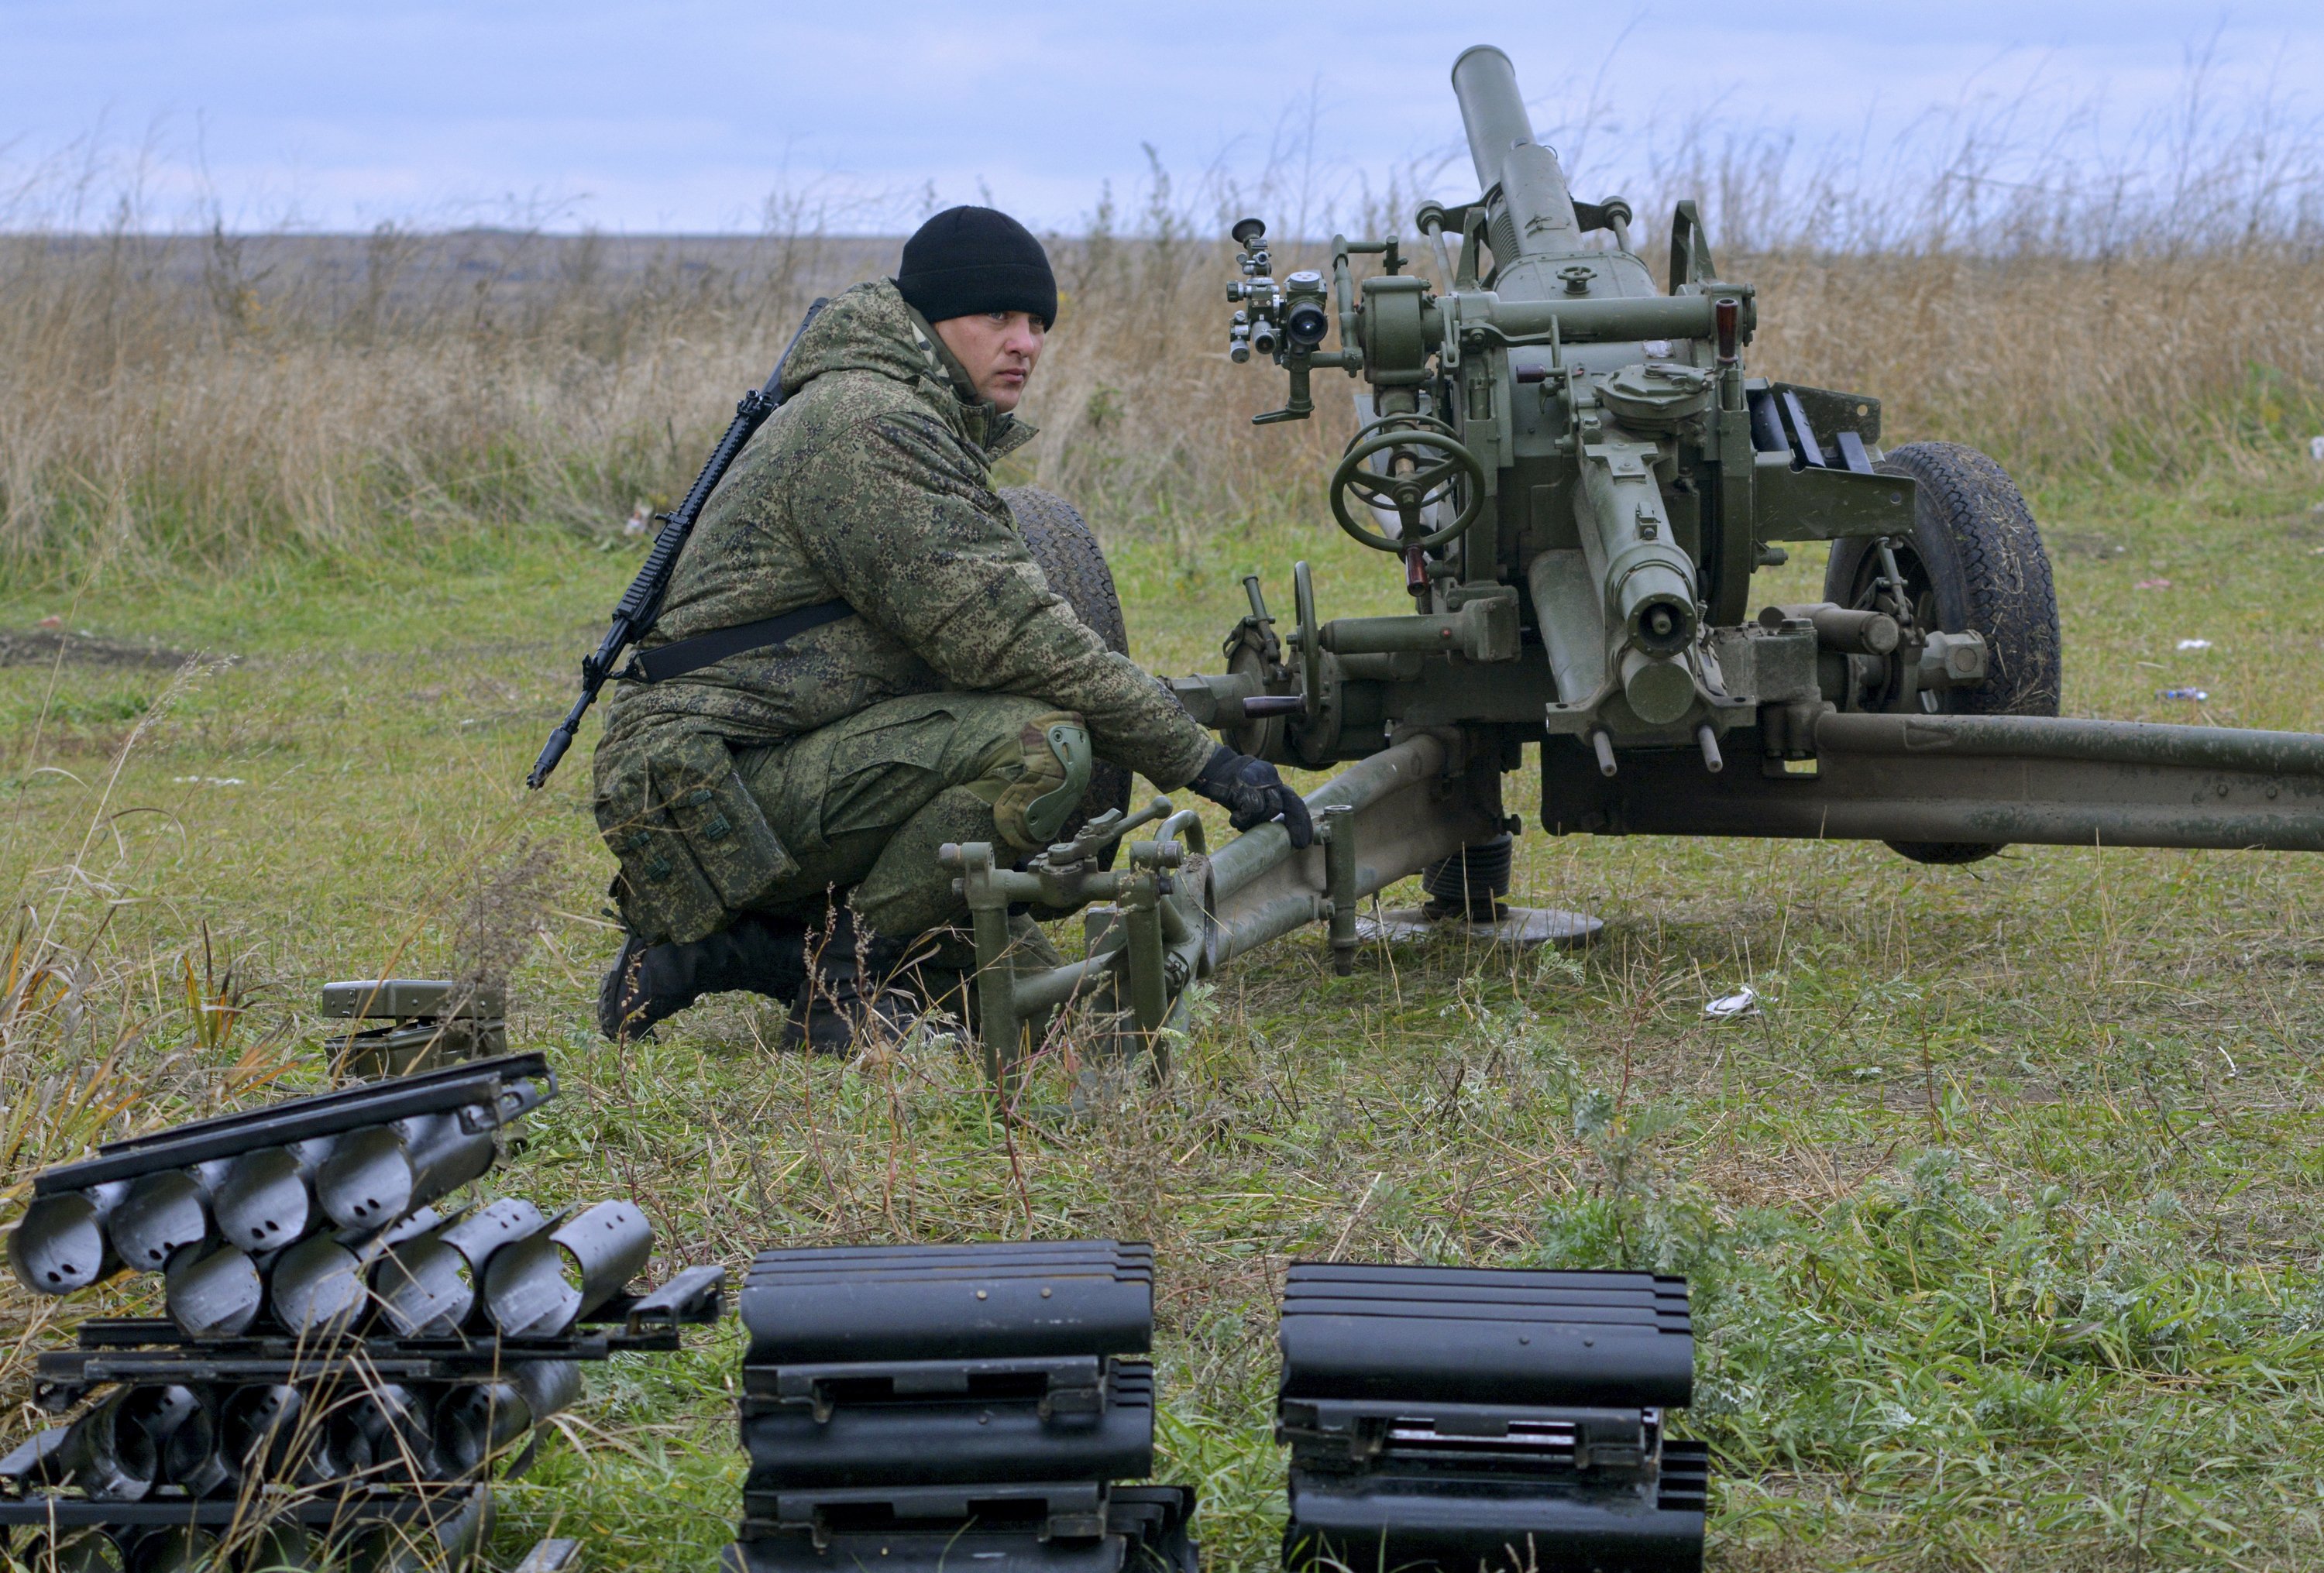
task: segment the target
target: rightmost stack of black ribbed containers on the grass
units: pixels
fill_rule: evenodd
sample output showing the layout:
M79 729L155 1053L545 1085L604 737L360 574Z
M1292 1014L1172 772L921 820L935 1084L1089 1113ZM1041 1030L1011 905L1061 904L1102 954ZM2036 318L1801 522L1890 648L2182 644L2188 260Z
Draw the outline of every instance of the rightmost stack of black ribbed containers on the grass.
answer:
M1287 1568L1701 1568L1685 1280L1301 1262L1281 1348Z

